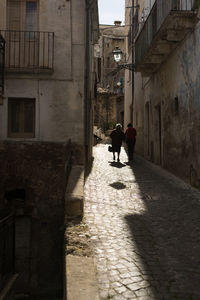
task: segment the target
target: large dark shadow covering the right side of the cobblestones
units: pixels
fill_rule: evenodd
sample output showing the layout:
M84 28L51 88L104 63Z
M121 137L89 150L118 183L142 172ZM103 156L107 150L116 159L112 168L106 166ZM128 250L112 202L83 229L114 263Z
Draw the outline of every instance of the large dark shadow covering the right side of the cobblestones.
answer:
M200 193L140 158L131 166L146 206L125 220L155 300L200 299Z

